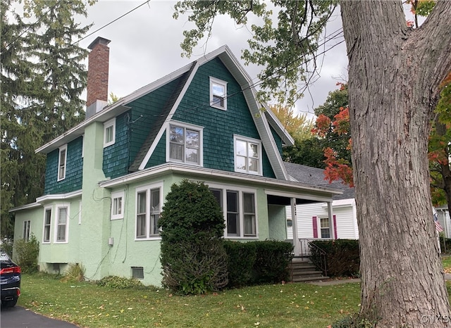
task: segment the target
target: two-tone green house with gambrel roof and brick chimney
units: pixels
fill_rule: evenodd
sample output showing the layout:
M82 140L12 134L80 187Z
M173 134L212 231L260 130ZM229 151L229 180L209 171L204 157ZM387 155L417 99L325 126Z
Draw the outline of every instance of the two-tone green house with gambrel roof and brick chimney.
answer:
M37 149L44 194L12 210L15 240L40 243L39 270L80 263L88 279L158 286L157 222L183 179L209 185L237 241L286 240L285 206L341 194L290 179L280 154L293 140L227 46L107 105L109 42L89 45L85 121Z

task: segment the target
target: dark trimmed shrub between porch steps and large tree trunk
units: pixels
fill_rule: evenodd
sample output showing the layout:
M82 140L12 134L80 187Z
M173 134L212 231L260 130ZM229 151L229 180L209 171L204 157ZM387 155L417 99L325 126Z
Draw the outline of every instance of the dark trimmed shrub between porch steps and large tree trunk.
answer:
M330 277L357 277L360 270L359 241L354 239L311 241L326 252L327 275ZM310 247L311 260L317 263L320 254Z

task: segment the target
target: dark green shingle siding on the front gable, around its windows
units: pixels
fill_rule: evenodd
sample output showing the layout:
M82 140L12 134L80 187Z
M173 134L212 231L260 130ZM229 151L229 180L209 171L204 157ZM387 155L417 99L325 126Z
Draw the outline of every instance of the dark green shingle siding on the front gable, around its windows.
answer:
M227 82L227 111L209 106L209 77ZM233 134L261 139L247 107L240 84L219 58L202 65L196 72L174 120L204 127L204 167L233 172ZM263 153L265 177L275 177L268 156Z

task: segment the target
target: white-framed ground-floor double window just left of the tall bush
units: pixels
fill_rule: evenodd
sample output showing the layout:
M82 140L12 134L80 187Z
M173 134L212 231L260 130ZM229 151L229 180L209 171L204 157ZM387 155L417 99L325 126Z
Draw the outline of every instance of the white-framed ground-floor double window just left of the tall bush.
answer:
M158 221L162 203L162 183L136 189L136 239L159 237Z

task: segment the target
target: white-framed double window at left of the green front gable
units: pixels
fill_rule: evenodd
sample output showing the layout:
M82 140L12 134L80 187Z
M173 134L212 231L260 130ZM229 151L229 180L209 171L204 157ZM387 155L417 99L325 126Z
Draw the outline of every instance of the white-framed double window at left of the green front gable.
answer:
M202 165L202 127L170 124L166 160Z

